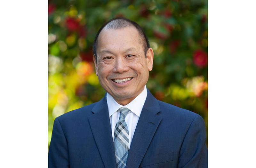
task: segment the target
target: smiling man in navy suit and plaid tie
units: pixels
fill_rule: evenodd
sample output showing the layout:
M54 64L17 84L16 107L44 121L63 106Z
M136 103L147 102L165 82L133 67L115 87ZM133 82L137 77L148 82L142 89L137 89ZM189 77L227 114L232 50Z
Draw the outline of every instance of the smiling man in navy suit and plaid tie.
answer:
M114 18L100 28L93 49L107 93L55 119L49 167L207 167L202 117L146 89L154 53L140 26Z

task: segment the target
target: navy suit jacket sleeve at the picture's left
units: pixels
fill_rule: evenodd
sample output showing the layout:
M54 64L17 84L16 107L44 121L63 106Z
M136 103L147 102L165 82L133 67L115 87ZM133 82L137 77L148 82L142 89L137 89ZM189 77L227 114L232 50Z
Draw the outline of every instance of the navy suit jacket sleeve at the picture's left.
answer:
M68 143L58 118L54 120L49 146L48 168L68 168Z

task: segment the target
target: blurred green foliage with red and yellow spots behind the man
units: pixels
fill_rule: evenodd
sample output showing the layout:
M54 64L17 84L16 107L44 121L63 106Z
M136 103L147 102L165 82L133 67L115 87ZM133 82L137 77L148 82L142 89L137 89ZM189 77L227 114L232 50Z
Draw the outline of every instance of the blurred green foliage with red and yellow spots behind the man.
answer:
M48 1L49 143L56 117L104 96L92 43L99 28L118 16L140 24L154 50L150 92L198 113L208 130L207 5L206 0Z

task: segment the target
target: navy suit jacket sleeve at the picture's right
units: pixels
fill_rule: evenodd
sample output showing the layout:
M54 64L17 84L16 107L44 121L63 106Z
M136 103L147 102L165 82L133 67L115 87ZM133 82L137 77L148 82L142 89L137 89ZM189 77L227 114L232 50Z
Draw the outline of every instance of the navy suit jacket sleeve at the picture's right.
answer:
M203 118L198 115L191 123L180 149L178 167L207 168L208 149Z

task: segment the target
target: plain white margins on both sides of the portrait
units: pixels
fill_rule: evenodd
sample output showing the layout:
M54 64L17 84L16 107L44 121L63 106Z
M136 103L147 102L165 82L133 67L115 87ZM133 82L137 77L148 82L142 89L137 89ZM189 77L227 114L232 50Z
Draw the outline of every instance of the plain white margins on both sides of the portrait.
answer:
M1 2L1 165L47 167L47 1ZM255 1L208 4L209 167L255 166Z

